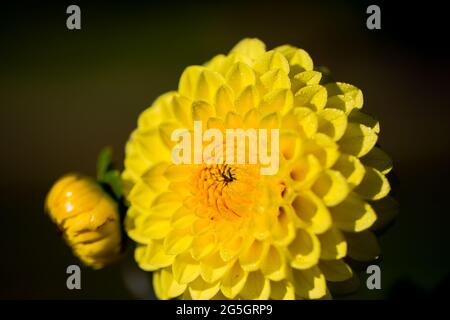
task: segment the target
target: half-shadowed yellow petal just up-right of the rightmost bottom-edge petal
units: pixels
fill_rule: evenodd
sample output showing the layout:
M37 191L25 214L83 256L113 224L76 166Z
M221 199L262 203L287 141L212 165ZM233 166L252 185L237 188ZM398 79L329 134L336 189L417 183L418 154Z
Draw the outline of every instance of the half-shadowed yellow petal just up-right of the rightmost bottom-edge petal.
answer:
M347 255L347 242L342 232L337 228L330 228L317 237L321 246L320 259L337 260Z

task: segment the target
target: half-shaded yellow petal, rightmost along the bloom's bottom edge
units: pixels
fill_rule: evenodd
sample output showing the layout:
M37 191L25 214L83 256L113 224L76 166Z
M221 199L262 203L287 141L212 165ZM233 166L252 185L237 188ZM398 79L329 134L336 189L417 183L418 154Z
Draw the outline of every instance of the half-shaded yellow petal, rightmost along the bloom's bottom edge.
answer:
M295 293L307 299L320 299L327 293L325 276L317 266L306 270L293 270Z

